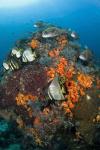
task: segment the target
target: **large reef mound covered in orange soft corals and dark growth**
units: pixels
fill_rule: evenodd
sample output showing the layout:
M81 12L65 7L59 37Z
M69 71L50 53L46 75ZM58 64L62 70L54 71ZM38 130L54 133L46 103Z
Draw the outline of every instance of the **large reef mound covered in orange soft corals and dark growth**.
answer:
M77 39L46 25L11 50L0 80L0 149L99 150L100 70L79 60Z

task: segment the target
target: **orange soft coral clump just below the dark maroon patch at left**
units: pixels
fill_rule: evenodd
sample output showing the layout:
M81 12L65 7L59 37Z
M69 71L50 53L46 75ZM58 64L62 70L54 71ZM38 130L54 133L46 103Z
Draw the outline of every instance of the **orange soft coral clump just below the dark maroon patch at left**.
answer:
M24 95L22 93L19 93L16 97L16 103L17 103L18 106L22 105L25 108L27 108L28 100L35 101L36 99L37 99L37 97L33 96L31 94Z

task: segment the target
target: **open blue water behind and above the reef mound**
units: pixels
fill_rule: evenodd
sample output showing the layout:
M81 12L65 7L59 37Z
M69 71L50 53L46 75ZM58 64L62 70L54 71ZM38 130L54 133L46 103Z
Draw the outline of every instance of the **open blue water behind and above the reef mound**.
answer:
M28 0L27 0L28 1ZM37 0L27 6L0 8L0 61L16 40L30 36L38 20L69 27L80 35L82 45L100 58L99 0Z

